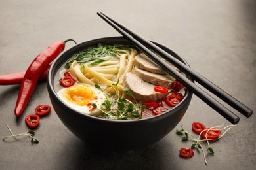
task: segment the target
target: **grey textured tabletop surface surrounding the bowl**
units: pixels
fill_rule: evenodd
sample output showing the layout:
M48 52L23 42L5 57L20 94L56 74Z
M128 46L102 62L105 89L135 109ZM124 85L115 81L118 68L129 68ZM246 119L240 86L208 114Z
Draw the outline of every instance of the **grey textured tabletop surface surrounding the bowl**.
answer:
M163 44L190 66L256 110L256 1L0 1L0 73L25 71L49 44L65 39L78 43L119 36L96 12L104 12L143 37ZM69 42L66 50L74 44ZM22 116L14 116L20 86L0 86L0 137L27 131L26 115L39 104L50 104L45 83L37 84ZM234 110L234 109L231 109ZM190 146L171 131L158 143L131 152L100 152L87 148L60 122L54 110L35 130L39 144L26 137L0 141L0 169L254 169L255 114L245 118L223 139L212 143L215 155L202 152L188 160L179 149ZM230 123L195 95L175 129L191 131L192 122L208 127Z

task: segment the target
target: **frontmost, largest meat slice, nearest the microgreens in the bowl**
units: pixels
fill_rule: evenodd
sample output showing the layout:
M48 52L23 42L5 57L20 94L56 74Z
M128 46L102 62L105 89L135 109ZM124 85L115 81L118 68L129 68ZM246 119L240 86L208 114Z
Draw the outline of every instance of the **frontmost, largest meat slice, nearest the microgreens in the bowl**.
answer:
M158 99L168 95L168 93L155 92L154 86L154 84L145 82L133 73L126 73L125 75L125 88L131 90L138 101L158 101Z

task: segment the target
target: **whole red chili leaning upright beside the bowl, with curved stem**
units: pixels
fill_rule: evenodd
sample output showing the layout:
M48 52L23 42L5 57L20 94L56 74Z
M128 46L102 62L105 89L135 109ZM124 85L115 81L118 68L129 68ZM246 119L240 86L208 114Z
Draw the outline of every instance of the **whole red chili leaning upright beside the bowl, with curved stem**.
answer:
M18 99L16 102L16 107L14 113L16 117L19 117L25 109L28 101L30 100L30 96L35 89L35 85L39 80L39 76L45 71L48 65L55 59L65 48L65 44L68 41L74 41L72 39L68 39L64 42L58 41L49 46L46 50L41 52L30 64L28 67L24 78L22 80L22 84L20 86L20 92L18 93ZM75 42L75 41L74 41Z

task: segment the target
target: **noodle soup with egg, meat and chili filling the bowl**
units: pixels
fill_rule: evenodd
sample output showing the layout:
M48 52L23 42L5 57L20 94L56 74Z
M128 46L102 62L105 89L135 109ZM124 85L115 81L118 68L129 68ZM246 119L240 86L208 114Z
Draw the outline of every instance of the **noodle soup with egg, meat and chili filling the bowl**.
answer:
M178 105L185 88L148 56L125 45L87 48L58 71L55 90L66 105L110 120L137 120Z

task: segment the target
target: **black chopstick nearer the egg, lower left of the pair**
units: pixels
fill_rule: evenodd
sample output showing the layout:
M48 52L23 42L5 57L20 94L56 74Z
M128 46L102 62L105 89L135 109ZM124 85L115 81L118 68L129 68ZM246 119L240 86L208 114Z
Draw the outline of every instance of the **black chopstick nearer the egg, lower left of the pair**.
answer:
M139 41L137 41L136 39L131 37L131 35L129 35L125 31L123 31L122 29L120 29L116 24L114 24L111 20L106 18L106 16L104 16L102 13L98 12L97 14L103 20L105 20L108 24L112 25L112 27L114 27L114 29L116 29L119 33L121 33L121 35L123 35L125 38L127 38L129 41L131 41L133 43L133 45L135 45L137 48L142 50L142 52L144 52L154 62L156 62L158 65L160 65L161 68L165 69L165 71L167 71L167 73L169 73L170 75L173 75L177 80L179 80L182 84L184 84L184 86L186 86L186 88L188 88L192 93L197 95L200 99L202 99L205 103L207 103L207 105L209 105L214 110L219 112L219 114L221 114L224 118L226 118L226 120L228 120L232 124L237 124L239 122L240 118L238 116L236 116L236 114L234 114L233 112L228 110L221 103L219 103L217 100L215 100L213 97L211 97L211 95L204 92L201 88L196 86L196 84L194 84L192 81L190 81L188 78L186 78L186 76L179 73L179 71L177 71L176 69L171 67L168 63L166 63L162 59L158 58L158 56L156 56L156 54L154 54L154 52L152 52L150 49L146 48L146 46L144 46Z

